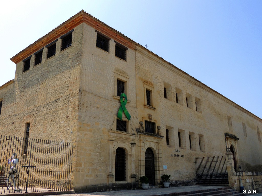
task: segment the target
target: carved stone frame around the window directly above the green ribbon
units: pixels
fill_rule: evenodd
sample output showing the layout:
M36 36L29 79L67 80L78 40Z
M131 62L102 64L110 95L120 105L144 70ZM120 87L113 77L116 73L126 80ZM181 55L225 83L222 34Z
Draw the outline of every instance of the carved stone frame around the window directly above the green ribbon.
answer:
M130 103L129 98L129 76L122 70L114 70L114 99L120 100L120 96L117 96L117 80L125 82L125 94L127 95L127 102Z

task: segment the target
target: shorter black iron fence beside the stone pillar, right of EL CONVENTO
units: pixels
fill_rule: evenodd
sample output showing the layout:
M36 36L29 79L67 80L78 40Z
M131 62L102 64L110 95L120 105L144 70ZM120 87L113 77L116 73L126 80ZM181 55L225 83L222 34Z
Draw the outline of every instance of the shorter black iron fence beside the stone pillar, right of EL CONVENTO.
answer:
M228 184L226 156L195 158L198 184Z

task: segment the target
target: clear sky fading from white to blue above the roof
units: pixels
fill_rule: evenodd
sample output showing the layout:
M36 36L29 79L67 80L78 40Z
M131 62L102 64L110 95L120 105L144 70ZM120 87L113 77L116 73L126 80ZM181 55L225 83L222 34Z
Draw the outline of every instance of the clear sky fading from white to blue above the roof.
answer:
M0 86L9 59L83 9L262 118L262 1L1 3Z

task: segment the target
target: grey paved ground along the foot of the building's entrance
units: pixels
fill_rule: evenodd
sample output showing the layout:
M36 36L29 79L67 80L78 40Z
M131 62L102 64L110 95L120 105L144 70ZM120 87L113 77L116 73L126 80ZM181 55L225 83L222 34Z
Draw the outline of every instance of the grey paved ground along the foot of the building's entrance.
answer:
M149 196L149 195L163 195L168 193L177 192L189 192L197 190L208 190L213 188L221 188L220 186L181 186L181 187L169 187L169 188L150 188L148 190L136 189L136 190L123 190L123 191L110 191L110 192L95 192L95 193L74 193L64 194L61 196ZM250 194L251 195L251 194ZM262 196L256 194L256 196Z

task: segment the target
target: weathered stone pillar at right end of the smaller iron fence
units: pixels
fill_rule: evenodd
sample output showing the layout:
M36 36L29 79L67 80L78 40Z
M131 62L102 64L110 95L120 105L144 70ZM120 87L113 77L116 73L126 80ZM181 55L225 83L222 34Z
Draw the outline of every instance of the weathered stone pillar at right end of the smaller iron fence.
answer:
M233 153L230 151L230 148L227 148L227 152L225 153L226 155L226 165L227 165L227 174L228 174L228 183L229 186L232 188L237 188L239 187L235 183L235 169L234 169L234 160L233 160Z

